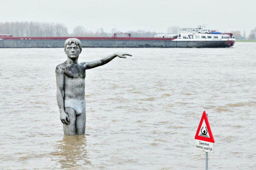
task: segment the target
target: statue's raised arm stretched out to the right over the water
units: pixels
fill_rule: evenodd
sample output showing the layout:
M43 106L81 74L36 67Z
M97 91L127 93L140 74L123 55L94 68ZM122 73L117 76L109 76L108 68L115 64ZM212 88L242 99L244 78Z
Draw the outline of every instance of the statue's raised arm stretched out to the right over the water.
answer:
M113 60L115 57L126 58L126 55L132 56L131 54L128 54L128 53L114 53L114 54L110 54L110 55L108 55L108 56L106 56L106 57L104 57L100 60L82 62L81 64L84 65L84 67L86 69L91 69L91 68L94 68L94 67L98 67L98 66L102 66L104 64L107 64L108 62Z

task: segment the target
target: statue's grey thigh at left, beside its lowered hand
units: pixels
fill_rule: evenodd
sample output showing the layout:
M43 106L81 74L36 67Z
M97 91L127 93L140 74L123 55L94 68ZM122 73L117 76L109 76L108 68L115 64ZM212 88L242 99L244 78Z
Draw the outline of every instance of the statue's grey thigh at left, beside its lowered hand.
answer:
M65 112L69 117L69 124L63 124L64 135L75 135L76 112L72 108L65 108Z

